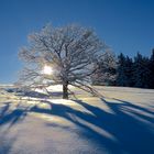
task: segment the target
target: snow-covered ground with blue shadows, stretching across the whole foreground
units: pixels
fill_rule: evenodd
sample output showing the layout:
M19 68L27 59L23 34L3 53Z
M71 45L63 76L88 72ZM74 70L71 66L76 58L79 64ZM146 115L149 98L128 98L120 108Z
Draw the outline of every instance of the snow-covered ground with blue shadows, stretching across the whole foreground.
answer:
M97 87L97 98L72 89L63 100L61 86L52 98L2 87L0 154L154 154L154 90Z

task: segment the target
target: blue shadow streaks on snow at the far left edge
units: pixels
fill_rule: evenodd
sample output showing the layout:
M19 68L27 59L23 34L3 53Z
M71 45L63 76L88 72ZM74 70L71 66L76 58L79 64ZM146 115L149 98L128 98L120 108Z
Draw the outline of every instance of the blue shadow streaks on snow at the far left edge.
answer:
M20 103L14 109L11 107L12 102L2 105L0 107L0 154L10 154L16 136L10 136L9 130L25 118L26 109L20 109Z

